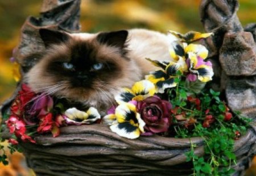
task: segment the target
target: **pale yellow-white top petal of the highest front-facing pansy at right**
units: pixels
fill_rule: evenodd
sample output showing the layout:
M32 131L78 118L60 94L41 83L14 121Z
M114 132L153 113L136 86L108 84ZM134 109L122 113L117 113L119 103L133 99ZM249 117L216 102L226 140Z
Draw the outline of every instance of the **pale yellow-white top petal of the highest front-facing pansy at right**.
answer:
M208 50L203 45L197 45L197 44L189 44L187 47L185 47L185 53L192 52L195 53L197 56L205 59L208 56Z

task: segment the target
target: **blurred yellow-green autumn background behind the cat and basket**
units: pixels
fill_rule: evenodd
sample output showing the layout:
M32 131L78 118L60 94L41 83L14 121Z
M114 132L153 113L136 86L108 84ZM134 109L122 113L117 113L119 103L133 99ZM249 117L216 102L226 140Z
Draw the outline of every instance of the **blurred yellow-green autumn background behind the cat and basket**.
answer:
M38 16L43 0L0 0L0 104L15 89L13 65L9 61L19 42L19 32L27 16ZM98 32L147 28L166 32L203 32L199 17L200 0L82 0L81 31ZM242 25L256 23L256 1L240 0L238 17ZM1 121L1 119L0 119ZM33 175L20 164L22 155L10 156L12 164L0 164L0 176ZM256 159L247 176L256 175Z

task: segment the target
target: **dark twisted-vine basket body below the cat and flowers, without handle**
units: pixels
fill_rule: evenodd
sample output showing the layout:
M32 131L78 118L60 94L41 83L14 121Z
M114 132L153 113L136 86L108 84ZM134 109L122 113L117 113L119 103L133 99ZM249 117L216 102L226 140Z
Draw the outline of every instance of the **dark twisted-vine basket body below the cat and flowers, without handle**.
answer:
M256 127L256 126L255 126ZM185 152L191 141L204 154L201 138L175 139L141 136L129 140L103 125L68 126L61 135L36 136L38 144L23 143L27 164L36 175L189 175L191 162ZM255 153L256 133L249 130L236 141L237 165L234 175L242 175Z

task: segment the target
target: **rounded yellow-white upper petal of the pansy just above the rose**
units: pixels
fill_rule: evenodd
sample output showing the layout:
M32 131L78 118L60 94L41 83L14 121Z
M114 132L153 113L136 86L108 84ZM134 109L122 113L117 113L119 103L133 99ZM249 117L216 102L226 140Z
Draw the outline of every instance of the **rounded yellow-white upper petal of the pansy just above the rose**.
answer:
M131 90L134 92L135 95L148 95L153 96L155 93L155 86L151 81L142 80L136 82Z

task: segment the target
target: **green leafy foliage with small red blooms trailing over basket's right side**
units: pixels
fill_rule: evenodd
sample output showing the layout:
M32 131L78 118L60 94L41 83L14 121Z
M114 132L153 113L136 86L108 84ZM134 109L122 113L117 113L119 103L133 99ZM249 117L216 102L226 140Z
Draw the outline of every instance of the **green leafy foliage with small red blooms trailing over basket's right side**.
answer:
M220 92L213 89L203 89L200 93L188 93L183 78L176 80L177 86L169 90L170 102L173 105L175 138L192 138L200 136L204 140L205 154L199 157L195 154L196 145L191 142L191 151L185 153L187 161L193 164L194 176L200 175L232 175L231 168L236 164L233 152L234 140L237 134L245 134L249 128L250 119L242 117L240 112L232 112L232 118L225 121L226 113L231 113ZM180 115L185 119L196 119L195 123L179 125Z

